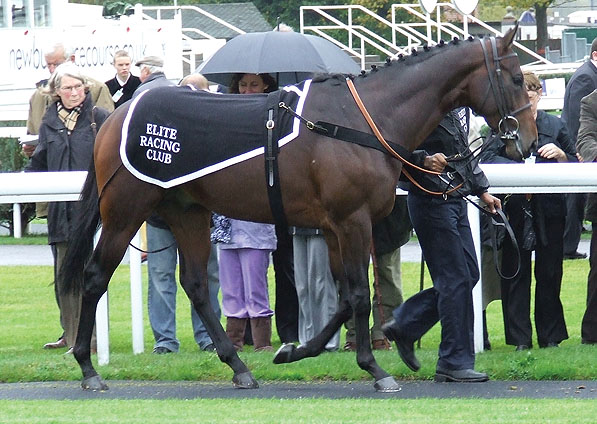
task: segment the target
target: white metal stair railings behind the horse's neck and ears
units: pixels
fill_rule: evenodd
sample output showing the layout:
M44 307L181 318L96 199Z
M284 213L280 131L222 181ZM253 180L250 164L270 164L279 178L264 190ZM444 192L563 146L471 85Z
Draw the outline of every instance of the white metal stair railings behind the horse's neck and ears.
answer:
M415 22L398 22L400 11L413 16ZM365 67L367 50L395 58L399 54L409 54L413 48L423 44L434 45L443 35L447 35L449 38L467 37L469 21L481 26L490 34L502 35L500 31L471 15L460 14L463 17L463 28L460 28L442 20L446 11L460 14L451 3L438 3L432 14L424 13L419 4L393 4L392 20L388 21L360 5L301 6L300 31L315 33L332 41L356 56L360 60L362 68ZM315 23L311 24L311 22ZM385 39L377 34L380 26L390 30L390 39ZM347 41L339 41L340 37ZM537 62L551 63L518 42L514 42L514 45L534 57Z

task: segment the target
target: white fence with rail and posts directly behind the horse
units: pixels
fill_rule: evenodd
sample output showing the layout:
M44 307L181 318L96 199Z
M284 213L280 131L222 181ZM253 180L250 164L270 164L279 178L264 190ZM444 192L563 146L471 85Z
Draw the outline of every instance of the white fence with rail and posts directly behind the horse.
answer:
M597 192L597 163L482 165L481 167L491 182L492 193ZM77 200L85 176L86 172L0 173L0 203ZM469 220L473 228L477 256L480 258L479 213L472 206L469 208ZM133 352L140 353L143 352L141 257L135 250L131 250L130 257ZM473 291L477 351L483 350L482 284L483 281L480 281ZM97 319L107 323L107 314L107 308L99 308ZM102 327L104 330L101 335L98 328L98 360L105 364L109 359L108 330L107 325Z

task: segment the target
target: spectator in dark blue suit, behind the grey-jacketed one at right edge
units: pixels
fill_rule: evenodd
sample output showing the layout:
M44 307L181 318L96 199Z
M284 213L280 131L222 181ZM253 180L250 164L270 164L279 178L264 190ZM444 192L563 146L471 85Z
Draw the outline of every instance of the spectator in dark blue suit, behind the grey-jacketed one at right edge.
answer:
M562 121L568 129L573 145L576 143L580 118L580 100L597 88L597 38L591 43L591 57L572 75L564 94ZM584 253L578 252L578 243L582 233L585 193L566 194L566 230L564 231L564 259L584 259Z

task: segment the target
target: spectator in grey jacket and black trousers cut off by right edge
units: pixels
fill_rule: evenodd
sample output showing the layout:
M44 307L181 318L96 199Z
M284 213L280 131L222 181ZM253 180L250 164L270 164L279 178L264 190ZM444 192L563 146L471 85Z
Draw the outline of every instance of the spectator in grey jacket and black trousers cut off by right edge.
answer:
M582 161L597 161L597 90L581 100L576 148ZM597 193L588 195L586 217L593 224L593 234L587 280L587 309L582 319L581 340L583 344L597 344Z

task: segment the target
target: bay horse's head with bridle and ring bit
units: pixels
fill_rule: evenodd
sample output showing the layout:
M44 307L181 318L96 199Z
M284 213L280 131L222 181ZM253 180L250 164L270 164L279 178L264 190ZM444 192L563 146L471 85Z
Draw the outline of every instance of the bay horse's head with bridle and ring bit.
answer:
M484 64L475 72L471 103L492 129L500 133L507 155L522 160L536 148L537 126L518 56L512 50L517 30L518 23L503 38L480 40Z

